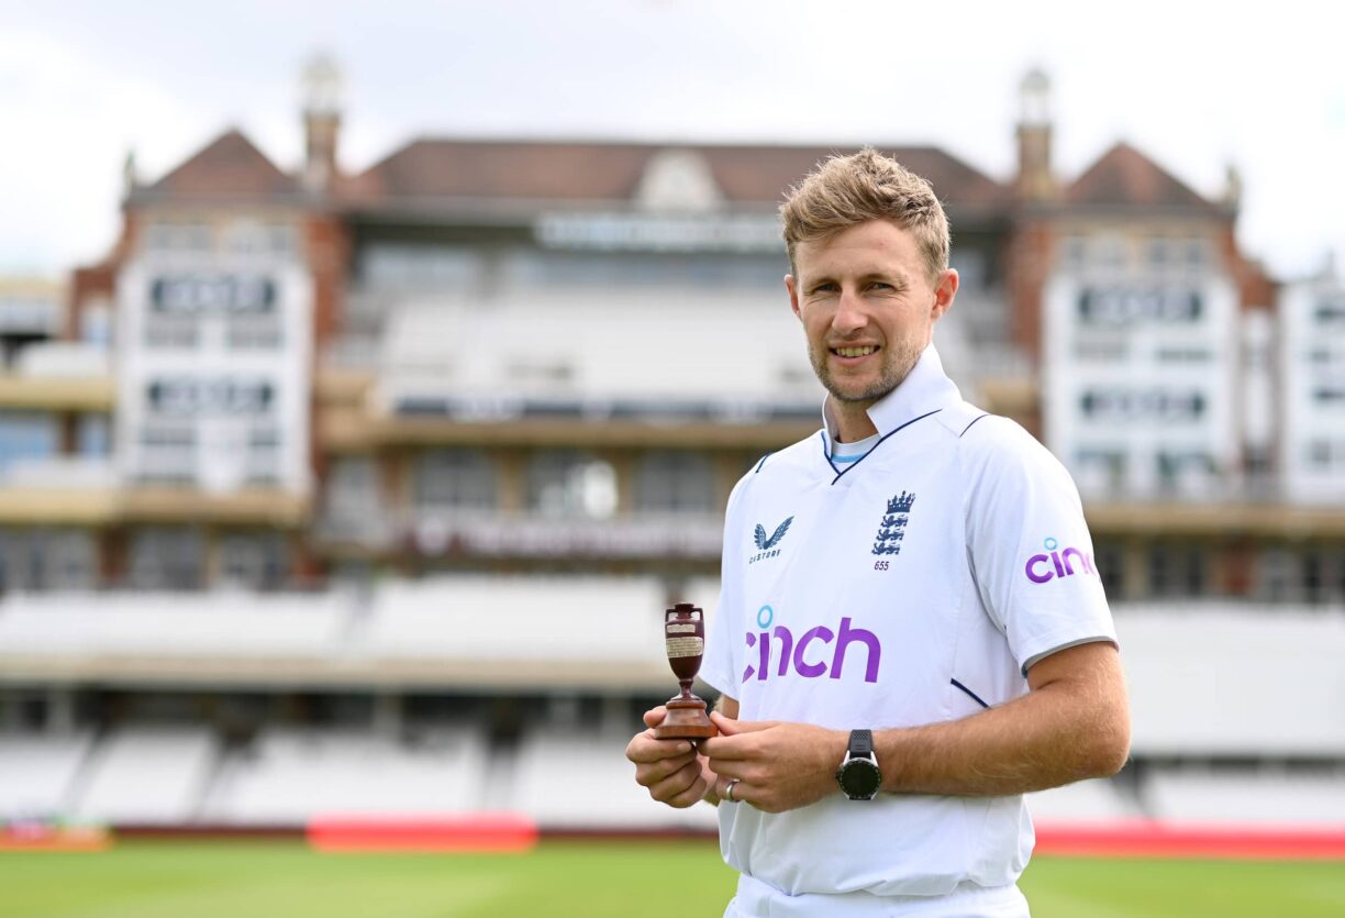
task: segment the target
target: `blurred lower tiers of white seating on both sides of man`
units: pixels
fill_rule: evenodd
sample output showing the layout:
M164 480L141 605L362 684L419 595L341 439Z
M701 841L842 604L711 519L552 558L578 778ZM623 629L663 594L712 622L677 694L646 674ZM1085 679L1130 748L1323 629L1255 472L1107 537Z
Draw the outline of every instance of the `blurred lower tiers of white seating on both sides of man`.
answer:
M664 599L654 577L479 575L97 610L79 594L11 596L0 672L40 674L74 723L0 734L0 820L282 828L498 810L555 831L703 831L713 813L652 805L621 755L642 705L671 693ZM1345 821L1338 611L1122 606L1116 619L1138 767L1032 794L1042 821ZM192 704L156 711L163 693ZM286 705L305 699L296 721Z

